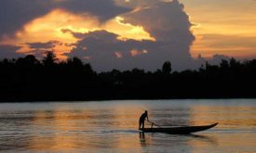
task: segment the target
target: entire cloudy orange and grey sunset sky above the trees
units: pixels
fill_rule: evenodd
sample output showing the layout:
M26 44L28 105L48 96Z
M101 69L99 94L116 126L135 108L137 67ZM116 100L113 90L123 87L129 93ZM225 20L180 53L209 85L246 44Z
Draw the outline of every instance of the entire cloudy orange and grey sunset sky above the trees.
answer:
M53 51L94 70L256 57L254 0L1 0L0 58Z

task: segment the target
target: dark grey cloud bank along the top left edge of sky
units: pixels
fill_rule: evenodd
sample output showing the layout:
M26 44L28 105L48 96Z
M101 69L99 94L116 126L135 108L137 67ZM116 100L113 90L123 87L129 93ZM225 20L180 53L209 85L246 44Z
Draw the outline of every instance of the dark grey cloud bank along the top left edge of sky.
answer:
M32 19L62 8L79 15L93 15L101 21L111 19L130 9L115 6L112 0L0 0L0 38L13 36Z

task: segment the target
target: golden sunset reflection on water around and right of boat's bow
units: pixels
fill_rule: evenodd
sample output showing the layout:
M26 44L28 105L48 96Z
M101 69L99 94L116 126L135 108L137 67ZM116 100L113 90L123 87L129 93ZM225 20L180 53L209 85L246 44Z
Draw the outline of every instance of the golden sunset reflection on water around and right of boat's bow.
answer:
M194 125L219 122L215 131L206 132L212 141L196 141L189 144L193 152L256 152L256 108L250 106L194 106L191 108ZM254 131L254 132L253 132Z

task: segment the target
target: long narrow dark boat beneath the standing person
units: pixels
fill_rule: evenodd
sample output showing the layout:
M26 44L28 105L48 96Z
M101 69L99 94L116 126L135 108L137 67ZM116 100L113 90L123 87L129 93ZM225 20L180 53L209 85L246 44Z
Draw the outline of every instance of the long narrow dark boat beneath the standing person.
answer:
M167 133L167 134L192 134L201 132L213 128L218 122L205 125L205 126L181 126L181 127L169 127L169 128L144 128L140 129L144 133Z

